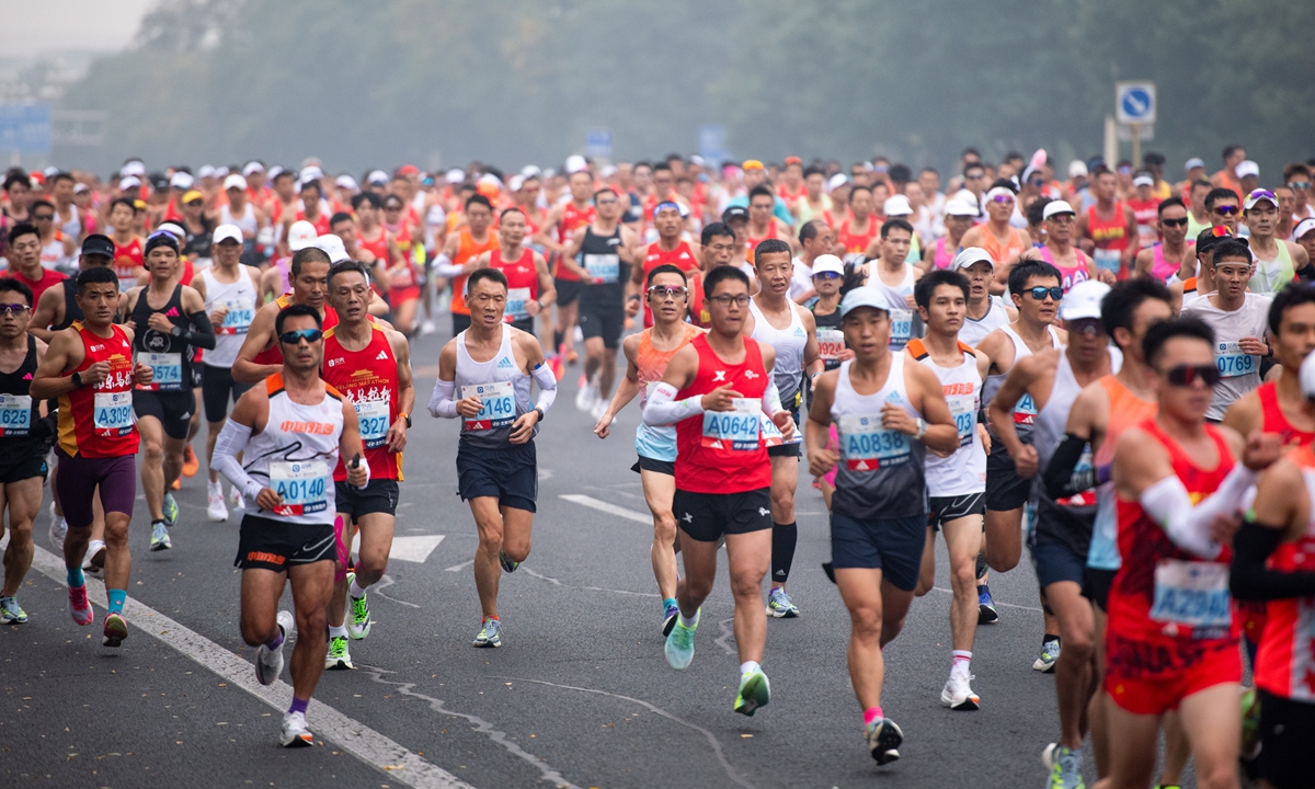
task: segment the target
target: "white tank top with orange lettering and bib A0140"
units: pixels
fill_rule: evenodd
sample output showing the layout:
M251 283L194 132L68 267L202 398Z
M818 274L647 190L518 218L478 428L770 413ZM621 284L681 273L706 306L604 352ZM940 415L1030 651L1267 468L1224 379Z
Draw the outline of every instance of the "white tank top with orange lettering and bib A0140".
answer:
M337 517L333 469L342 439L342 394L325 385L316 405L293 402L283 375L264 379L270 421L247 441L243 468L256 483L283 496L283 505L260 517L288 523L333 526Z

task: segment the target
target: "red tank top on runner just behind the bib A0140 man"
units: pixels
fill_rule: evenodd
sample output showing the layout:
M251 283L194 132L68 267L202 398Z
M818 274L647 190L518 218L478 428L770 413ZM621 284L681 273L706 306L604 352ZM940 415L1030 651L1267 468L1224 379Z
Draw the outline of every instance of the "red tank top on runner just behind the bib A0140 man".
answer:
M371 327L370 345L359 351L342 347L333 329L325 331L323 379L346 394L356 409L370 479L401 480L402 455L388 448L388 430L397 421L397 358L388 333L377 325ZM338 458L333 479L339 483L347 480L342 458Z

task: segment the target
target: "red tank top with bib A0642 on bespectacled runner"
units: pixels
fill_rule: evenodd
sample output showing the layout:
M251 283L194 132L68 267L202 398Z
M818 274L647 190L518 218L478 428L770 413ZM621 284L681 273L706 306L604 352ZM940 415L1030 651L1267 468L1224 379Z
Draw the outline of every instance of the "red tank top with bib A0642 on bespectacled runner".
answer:
M772 463L763 443L760 417L767 371L757 342L744 339L744 360L727 364L707 345L706 335L690 342L698 351L694 381L676 400L706 394L732 384L744 400L736 412L707 412L676 423L676 487L692 493L744 493L772 485Z

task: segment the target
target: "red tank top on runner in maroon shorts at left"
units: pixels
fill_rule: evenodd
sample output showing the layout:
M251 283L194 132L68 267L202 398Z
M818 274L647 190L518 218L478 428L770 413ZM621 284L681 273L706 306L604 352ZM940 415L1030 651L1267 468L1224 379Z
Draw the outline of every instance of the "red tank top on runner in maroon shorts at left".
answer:
M97 362L109 363L109 377L95 387L82 387L59 396L59 447L70 456L122 458L135 455L137 423L133 419L133 347L128 334L110 325L109 337L99 337L82 321L74 321L83 341L83 372ZM68 373L72 375L72 373Z

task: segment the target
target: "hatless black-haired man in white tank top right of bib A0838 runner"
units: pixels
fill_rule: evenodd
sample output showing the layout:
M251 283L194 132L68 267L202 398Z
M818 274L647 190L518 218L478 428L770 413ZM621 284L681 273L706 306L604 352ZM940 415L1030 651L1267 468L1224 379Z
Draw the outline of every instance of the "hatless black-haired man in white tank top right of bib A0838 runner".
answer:
M918 314L927 335L914 339L905 351L910 359L936 373L942 392L955 418L959 447L948 456L927 456L927 547L917 594L931 590L936 577L936 531L945 535L949 555L951 671L940 692L940 702L955 710L976 710L978 697L969 680L973 636L977 630L977 589L974 564L982 543L982 517L986 513L986 430L978 423L986 355L959 339L968 314L968 277L953 270L936 270L914 289Z

